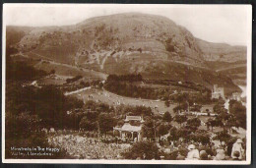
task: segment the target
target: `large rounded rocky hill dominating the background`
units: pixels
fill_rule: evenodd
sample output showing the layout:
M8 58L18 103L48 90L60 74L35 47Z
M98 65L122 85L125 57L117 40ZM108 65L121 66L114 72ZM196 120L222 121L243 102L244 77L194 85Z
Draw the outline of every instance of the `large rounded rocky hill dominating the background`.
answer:
M188 81L208 88L219 84L224 85L227 92L240 90L209 64L209 61L228 62L237 50L199 40L186 28L164 17L118 14L68 27L26 30L12 27L7 36L13 29L21 35L12 45L30 58L39 57L105 74L140 73L151 80ZM240 54L236 54L234 60L241 60Z

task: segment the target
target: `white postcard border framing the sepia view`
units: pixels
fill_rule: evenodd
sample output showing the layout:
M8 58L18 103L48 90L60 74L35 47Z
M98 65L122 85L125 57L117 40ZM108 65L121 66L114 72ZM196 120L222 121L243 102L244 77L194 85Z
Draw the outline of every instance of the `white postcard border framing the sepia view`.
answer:
M63 5L91 5L91 6L154 6L167 8L169 6L191 7L192 5L177 5L177 4L21 4L13 3L3 4L3 25L2 25L2 162L3 163L77 163L77 164L207 164L207 165L248 165L251 163L251 78L252 78L252 6L239 5L247 8L247 86L246 86L246 109L247 109L247 130L246 130L246 160L245 161L216 161L216 160L81 160L81 159L5 159L5 47L6 47L6 8L9 6L63 6ZM198 6L223 6L223 5L193 5ZM229 5L225 5L229 6ZM236 5L238 6L238 5Z

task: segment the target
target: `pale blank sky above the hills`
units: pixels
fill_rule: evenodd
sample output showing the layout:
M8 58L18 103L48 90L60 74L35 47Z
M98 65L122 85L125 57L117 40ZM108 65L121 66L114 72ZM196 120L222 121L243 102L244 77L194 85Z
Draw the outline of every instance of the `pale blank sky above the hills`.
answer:
M140 12L165 16L211 42L246 45L250 6L239 5L4 5L4 22L12 26L65 26L118 13Z

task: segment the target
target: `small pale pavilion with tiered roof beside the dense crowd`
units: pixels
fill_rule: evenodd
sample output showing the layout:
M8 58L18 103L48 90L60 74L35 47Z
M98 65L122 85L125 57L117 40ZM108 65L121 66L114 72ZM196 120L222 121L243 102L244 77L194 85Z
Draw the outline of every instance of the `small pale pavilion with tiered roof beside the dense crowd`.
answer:
M132 123L136 125L132 125ZM126 116L122 127L114 127L113 134L117 132L121 139L132 141L142 140L142 126L144 120L141 116Z

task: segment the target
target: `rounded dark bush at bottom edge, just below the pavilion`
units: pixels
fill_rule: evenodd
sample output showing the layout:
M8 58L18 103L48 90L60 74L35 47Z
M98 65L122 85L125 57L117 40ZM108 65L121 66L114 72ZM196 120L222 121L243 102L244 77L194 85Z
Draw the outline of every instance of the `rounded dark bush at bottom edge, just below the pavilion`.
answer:
M138 141L128 149L128 151L121 153L125 159L160 159L159 147L155 142Z

